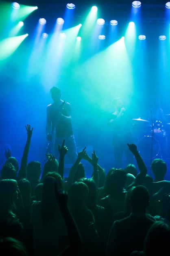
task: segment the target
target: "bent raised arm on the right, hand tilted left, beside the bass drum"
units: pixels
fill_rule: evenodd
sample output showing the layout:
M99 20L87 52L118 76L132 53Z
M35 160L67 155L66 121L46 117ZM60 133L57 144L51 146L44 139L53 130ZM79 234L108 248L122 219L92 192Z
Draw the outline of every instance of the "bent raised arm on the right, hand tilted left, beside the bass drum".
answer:
M137 175L137 177L135 178L135 185L140 185L143 184L144 182L144 178L147 174L147 168L146 165L142 159L142 157L140 156L138 150L137 150L137 146L135 144L127 144L129 147L129 150L131 150L131 152L133 153L133 155L135 156L136 162L137 162L137 166L139 168L139 173Z

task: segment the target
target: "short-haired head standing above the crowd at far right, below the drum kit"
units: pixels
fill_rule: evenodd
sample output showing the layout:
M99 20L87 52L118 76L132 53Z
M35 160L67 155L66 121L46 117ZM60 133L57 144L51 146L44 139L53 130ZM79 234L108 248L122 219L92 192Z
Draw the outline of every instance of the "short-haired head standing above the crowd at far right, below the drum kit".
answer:
M156 158L151 163L151 168L153 174L155 175L155 180L160 181L164 180L164 176L166 175L167 166L166 162L160 158Z

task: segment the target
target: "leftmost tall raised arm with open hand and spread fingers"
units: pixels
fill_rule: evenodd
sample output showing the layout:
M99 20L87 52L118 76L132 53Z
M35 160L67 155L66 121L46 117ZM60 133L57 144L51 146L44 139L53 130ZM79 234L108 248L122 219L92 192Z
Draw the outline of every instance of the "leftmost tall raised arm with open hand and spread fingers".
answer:
M20 179L24 179L26 178L26 170L27 170L27 159L28 159L28 152L30 149L30 144L31 144L31 137L33 134L33 128L31 129L31 126L29 124L27 124L27 126L25 126L26 131L27 131L27 140L26 140L26 145L24 148L24 152L22 155L22 159L21 159L21 166L20 166L20 170L18 172L18 176L17 176L17 180Z

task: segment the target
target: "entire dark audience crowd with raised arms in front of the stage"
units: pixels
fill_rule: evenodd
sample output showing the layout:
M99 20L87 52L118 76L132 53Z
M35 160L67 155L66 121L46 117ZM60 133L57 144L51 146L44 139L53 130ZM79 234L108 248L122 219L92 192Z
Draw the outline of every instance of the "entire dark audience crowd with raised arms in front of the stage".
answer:
M170 255L166 162L153 159L152 178L137 146L125 141L137 166L106 173L97 152L89 156L84 147L65 179L65 140L41 170L40 162L28 163L33 128L25 128L21 163L7 148L0 172L0 255ZM93 166L90 178L81 161Z

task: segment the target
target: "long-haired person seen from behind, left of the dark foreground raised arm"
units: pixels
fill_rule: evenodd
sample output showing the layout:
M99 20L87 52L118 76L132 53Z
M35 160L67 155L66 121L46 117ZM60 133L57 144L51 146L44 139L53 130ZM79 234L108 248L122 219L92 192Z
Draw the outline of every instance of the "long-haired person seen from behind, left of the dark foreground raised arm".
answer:
M55 198L54 184L63 189L61 175L52 172L44 177L42 200L31 206L34 256L58 255L68 246L68 234Z

